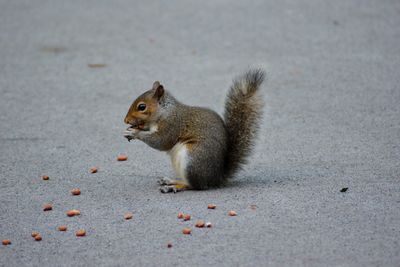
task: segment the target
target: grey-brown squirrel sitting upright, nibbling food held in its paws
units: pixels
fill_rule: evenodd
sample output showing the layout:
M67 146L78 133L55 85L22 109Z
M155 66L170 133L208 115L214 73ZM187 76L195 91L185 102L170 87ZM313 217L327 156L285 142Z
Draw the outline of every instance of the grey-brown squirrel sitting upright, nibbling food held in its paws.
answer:
M156 81L130 106L124 122L128 141L166 151L176 177L161 178L162 193L219 187L247 163L262 118L262 69L233 80L223 119L216 112L179 102Z

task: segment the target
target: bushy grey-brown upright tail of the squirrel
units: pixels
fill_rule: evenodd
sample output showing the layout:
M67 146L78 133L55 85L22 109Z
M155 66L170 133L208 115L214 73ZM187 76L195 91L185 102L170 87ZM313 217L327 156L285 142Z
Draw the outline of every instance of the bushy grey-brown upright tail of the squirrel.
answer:
M251 153L264 107L259 91L264 77L262 69L246 72L234 79L226 97L224 120L229 135L226 178L240 169Z

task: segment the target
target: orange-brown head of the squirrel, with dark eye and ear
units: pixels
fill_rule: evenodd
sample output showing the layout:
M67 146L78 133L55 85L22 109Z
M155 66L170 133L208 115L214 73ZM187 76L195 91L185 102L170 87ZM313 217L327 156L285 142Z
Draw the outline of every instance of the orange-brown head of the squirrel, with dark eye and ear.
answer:
M157 119L157 110L164 98L164 87L155 81L153 88L133 101L124 122L133 128L143 128Z

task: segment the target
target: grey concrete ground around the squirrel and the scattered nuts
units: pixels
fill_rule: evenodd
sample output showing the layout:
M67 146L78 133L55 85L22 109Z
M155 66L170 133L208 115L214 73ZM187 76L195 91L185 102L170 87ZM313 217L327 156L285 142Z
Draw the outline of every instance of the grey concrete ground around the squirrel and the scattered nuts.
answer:
M166 154L122 137L131 102L160 80L222 113L252 66L268 80L251 163L161 194ZM400 266L399 70L397 0L1 0L0 266Z

